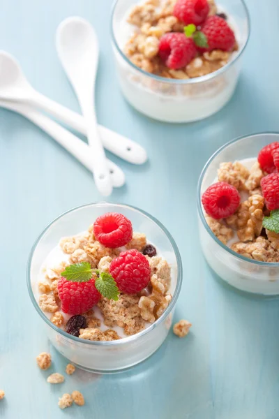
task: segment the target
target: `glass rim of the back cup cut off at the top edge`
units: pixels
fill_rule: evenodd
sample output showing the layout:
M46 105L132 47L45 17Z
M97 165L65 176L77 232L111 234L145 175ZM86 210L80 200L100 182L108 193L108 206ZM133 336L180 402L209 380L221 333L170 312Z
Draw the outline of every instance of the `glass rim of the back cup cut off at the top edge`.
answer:
M131 66L135 71L138 71L142 73L143 75L145 75L146 77L149 77L153 80L157 80L158 82L165 82L169 84L196 84L196 83L206 82L208 80L213 80L214 78L218 77L218 75L225 73L225 71L227 71L227 69L229 69L229 67L232 66L232 64L234 64L239 59L239 57L241 57L241 55L243 54L243 51L246 49L246 46L250 38L250 32L251 32L250 13L249 13L248 7L246 6L246 2L244 0L239 0L242 3L243 8L246 13L246 20L248 23L248 28L247 28L248 34L247 34L245 43L242 45L241 49L237 52L237 54L233 57L231 61L228 61L227 64L225 64L225 66L219 68L216 71L213 71L213 73L202 75L196 78L178 80L178 79L169 79L169 78L161 77L160 75L148 73L147 71L142 70L142 68L137 67L135 64L133 64L132 61L130 61L130 59L126 56L126 54L124 54L124 52L121 50L121 47L119 47L119 44L116 41L116 37L114 36L114 29L113 29L114 13L115 13L115 9L119 1L121 0L114 0L114 4L112 5L112 11L111 11L111 16L110 16L110 35L112 38L112 43L114 47L116 47L116 50L119 52L121 57L124 59L124 61L126 61L126 63L129 66Z

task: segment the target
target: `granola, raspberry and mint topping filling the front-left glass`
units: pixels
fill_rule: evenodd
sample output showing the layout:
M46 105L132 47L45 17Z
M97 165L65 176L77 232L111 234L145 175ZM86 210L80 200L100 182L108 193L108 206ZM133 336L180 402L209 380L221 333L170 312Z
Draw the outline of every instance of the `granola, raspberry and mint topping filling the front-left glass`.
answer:
M171 267L123 214L61 237L40 270L38 304L57 327L90 341L135 335L162 316ZM170 325L169 325L170 326Z

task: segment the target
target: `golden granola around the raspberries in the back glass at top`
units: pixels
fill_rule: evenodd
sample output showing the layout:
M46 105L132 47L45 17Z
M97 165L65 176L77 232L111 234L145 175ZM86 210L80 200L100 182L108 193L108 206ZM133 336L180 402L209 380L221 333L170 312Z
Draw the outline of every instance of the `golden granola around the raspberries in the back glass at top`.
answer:
M173 15L175 3L176 0L147 0L133 8L127 21L135 27L135 33L124 47L124 52L130 61L148 73L180 80L197 78L225 66L232 52L221 50L197 52L197 57L190 61L186 68L178 71L163 64L158 56L161 36L168 32L183 32L185 26ZM209 1L209 6L209 15L215 15L217 7L214 0ZM237 48L235 45L234 50Z

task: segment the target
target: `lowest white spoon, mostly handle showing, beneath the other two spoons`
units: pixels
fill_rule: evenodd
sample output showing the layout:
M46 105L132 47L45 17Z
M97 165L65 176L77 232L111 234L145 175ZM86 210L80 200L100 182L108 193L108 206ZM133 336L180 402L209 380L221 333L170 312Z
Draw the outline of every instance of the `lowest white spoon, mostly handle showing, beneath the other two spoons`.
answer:
M0 107L8 110L13 110L20 115L29 119L33 124L37 125L45 131L50 137L54 138L56 142L64 147L70 154L80 161L88 170L91 171L92 164L89 153L89 146L80 138L70 133L70 131L63 128L63 126L52 121L49 117L43 115L38 110L32 108L30 105L24 103L15 103L11 101L0 101ZM110 170L112 178L112 185L114 188L120 188L125 184L125 175L121 168L113 161L107 159L107 166Z

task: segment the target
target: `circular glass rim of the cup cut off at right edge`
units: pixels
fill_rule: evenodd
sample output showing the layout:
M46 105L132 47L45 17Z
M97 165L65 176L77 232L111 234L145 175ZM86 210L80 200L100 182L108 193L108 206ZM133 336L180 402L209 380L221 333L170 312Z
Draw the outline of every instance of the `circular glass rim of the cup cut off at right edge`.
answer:
M211 162L216 158L216 156L218 156L218 154L220 154L220 152L223 152L223 150L226 149L227 147L229 147L230 145L232 145L232 144L234 144L238 141L241 142L242 140L246 140L246 138L259 137L261 135L278 135L278 137L279 137L279 132L277 133L277 132L273 132L273 131L266 131L266 132L255 133L255 134L250 134L250 135L242 135L241 137L234 138L234 140L230 140L229 142L226 142L226 144L222 145L220 148L218 148L216 150L215 153L212 154L212 156L209 158L209 160L206 162L204 168L202 169L201 175L199 176L199 182L197 184L197 211L198 211L198 214L199 214L199 219L201 219L201 221L203 223L203 226L206 229L207 233L209 233L211 238L213 238L213 240L217 244L219 244L219 246L222 247L222 249L224 249L225 251L230 253L232 256L234 256L234 258L243 260L243 261L248 262L248 263L252 263L253 265L266 266L266 267L267 266L269 266L269 267L279 267L279 262L262 262L260 260L249 259L249 258L246 258L246 256L240 255L239 253L236 253L236 251L227 247L226 244L223 244L223 242L221 242L218 239L218 237L216 237L216 235L213 233L213 231L209 227L208 223L206 223L206 219L205 219L205 216L204 216L204 211L202 210L202 196L201 196L202 181L204 180L204 175L206 174L206 171L209 168L209 165L211 164Z

